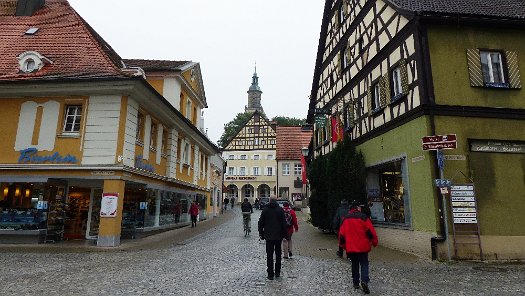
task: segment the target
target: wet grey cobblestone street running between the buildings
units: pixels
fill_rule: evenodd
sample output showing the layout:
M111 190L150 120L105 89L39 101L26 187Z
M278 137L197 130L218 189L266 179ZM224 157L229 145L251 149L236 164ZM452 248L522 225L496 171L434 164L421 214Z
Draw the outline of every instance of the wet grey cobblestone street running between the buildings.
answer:
M0 295L361 295L336 240L299 213L294 258L266 279L264 243L242 234L239 209L117 249L0 248ZM61 249L62 248L62 249ZM95 251L96 250L96 251ZM525 295L524 264L438 263L375 248L371 295Z

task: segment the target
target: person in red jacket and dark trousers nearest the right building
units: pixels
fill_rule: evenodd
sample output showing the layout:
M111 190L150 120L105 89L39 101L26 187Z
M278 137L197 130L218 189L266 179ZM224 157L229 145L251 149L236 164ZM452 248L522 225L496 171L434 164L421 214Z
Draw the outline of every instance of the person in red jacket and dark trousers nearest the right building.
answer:
M344 245L346 254L352 261L354 288L359 289L359 280L361 280L361 288L365 294L369 294L368 252L372 249L372 245L377 246L378 239L372 221L366 214L361 213L361 207L356 201L352 202L350 212L339 228L339 241Z

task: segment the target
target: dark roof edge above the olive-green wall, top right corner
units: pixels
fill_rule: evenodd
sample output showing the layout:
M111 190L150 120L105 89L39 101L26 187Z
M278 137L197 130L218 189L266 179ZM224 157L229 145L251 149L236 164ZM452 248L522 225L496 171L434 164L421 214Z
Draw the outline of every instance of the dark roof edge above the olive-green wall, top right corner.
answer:
M387 0L402 10L421 14L454 14L525 19L523 0Z

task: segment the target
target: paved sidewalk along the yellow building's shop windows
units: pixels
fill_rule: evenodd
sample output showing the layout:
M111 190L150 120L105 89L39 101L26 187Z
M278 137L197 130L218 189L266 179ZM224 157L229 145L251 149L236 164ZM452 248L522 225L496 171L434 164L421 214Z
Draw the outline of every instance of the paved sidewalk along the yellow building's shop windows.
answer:
M85 253L161 249L181 244L185 240L219 227L234 216L234 211L227 210L222 215L198 222L195 228L185 226L144 238L124 239L118 247L97 247L91 240L72 240L47 244L0 244L0 253Z

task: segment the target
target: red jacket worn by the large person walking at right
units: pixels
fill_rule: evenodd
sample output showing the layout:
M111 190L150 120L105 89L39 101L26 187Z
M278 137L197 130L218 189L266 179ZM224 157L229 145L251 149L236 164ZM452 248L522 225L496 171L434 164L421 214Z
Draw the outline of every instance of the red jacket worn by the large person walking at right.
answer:
M372 221L357 209L351 209L341 224L339 241L343 241L347 253L370 252L378 243Z

